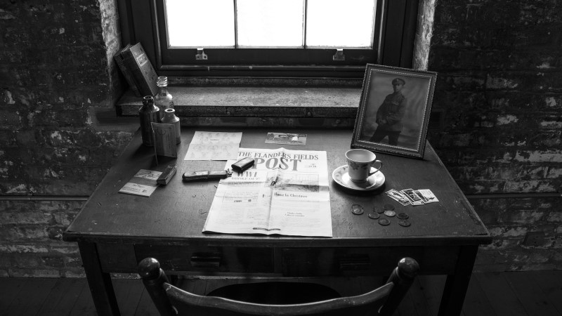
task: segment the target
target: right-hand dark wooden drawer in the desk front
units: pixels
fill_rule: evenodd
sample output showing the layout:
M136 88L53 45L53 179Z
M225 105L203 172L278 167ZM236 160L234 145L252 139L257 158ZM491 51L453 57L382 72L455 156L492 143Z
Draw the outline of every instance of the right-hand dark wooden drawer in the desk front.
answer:
M282 273L285 277L388 276L400 258L411 257L418 261L420 273L452 274L458 251L454 246L285 248L282 249Z

